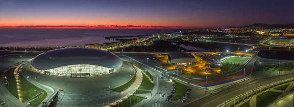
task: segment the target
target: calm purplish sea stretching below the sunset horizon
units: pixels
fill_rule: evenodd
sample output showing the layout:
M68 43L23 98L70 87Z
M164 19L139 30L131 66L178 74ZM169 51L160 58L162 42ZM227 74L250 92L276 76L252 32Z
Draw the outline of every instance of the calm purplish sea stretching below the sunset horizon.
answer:
M0 29L0 46L74 46L118 42L108 36L174 33L195 29ZM134 37L137 38L137 37ZM130 38L125 38L130 39Z

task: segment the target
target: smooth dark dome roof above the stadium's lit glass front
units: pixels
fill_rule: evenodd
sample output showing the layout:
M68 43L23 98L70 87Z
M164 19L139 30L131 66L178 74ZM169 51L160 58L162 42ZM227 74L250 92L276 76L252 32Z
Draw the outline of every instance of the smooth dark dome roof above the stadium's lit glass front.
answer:
M40 70L48 70L73 64L90 64L108 68L119 68L122 60L107 51L91 48L63 48L44 52L36 56L31 64Z

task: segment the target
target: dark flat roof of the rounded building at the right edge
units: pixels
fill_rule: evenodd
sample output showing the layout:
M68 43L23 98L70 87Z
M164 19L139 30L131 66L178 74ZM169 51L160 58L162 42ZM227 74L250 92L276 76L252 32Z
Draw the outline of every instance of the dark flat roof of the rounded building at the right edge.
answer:
M261 50L257 53L257 56L267 59L294 60L294 51Z

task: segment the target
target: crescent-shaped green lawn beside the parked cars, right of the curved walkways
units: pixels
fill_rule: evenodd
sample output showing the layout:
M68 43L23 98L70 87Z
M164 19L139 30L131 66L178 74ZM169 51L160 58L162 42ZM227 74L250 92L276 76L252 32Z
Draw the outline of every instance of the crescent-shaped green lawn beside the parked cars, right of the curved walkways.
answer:
M176 81L174 81L174 84L175 84L175 94L172 97L172 101L181 99L187 93L187 86Z

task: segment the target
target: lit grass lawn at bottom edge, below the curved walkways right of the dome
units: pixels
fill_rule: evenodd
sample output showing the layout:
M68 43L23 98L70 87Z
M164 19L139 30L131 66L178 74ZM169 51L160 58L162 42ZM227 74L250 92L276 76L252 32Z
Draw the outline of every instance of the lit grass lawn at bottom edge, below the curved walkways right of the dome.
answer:
M143 99L144 99L144 97L138 97L138 96L131 95L127 99L123 100L123 102L121 102L117 105L114 105L112 107L131 107L131 106L141 102Z

